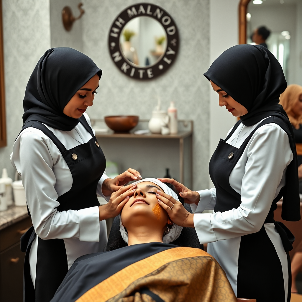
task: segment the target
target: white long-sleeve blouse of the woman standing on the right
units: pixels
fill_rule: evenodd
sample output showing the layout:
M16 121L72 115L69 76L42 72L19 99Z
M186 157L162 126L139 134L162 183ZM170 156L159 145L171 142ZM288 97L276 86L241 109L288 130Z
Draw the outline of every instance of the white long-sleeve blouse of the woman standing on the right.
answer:
M240 124L226 143L239 148L259 123L249 127ZM214 210L215 188L198 191L200 201L191 205L200 243L258 232L285 185L285 171L292 159L288 135L281 127L271 123L256 130L229 177L230 186L241 195L240 206L223 213L201 214Z

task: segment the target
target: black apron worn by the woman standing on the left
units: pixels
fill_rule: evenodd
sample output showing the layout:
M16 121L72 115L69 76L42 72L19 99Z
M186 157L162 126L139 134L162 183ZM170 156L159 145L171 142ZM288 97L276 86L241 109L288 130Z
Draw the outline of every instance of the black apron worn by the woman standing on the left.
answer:
M23 127L23 129L34 127L46 134L62 153L70 169L72 187L57 199L59 202L57 210L60 212L100 205L96 191L98 182L105 171L106 159L85 117L82 116L79 120L91 134L92 139L69 150L66 150L53 132L42 123L30 121ZM68 271L64 239L43 240L38 238L36 290L34 290L28 258L31 244L35 238L36 233L33 226L21 237L21 250L26 252L23 300L24 302L49 302Z

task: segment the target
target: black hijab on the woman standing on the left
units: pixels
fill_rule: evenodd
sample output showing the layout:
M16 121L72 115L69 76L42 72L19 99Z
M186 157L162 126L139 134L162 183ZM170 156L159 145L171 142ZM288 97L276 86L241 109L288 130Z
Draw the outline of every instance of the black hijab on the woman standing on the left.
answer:
M58 47L47 50L37 63L27 83L23 100L24 125L37 120L55 129L70 131L79 119L63 113L73 95L102 71L79 51Z

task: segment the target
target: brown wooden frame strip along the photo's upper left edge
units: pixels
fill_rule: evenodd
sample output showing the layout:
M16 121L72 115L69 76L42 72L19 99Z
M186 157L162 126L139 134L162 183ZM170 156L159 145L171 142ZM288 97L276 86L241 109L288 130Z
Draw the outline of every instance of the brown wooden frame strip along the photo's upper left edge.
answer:
M7 145L3 57L2 0L0 0L0 147Z

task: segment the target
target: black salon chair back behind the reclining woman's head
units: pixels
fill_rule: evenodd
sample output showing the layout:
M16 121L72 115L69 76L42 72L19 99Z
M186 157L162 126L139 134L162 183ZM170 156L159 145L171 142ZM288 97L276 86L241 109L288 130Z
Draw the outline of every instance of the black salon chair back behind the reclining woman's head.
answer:
M184 204L184 207L188 212L192 213L189 204ZM170 243L178 246L193 247L202 250L204 249L203 244L199 243L195 229L191 227L184 227L180 236ZM120 218L117 216L114 218L114 221L112 223L106 251L112 251L114 249L119 249L124 246L127 246L127 243L125 243L122 238L122 235L120 234Z

